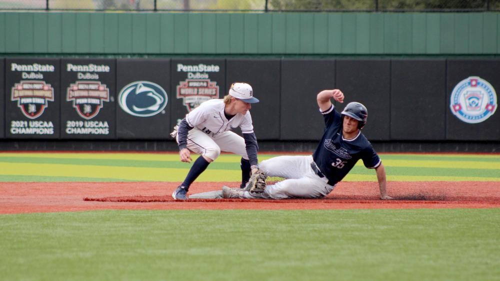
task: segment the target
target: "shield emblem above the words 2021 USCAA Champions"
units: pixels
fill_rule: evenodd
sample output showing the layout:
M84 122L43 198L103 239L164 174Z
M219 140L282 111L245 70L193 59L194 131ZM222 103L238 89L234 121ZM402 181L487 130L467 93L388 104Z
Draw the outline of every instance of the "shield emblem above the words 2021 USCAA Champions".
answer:
M54 89L44 81L21 81L12 87L10 100L17 101L24 116L35 119L48 106L47 101L54 101Z

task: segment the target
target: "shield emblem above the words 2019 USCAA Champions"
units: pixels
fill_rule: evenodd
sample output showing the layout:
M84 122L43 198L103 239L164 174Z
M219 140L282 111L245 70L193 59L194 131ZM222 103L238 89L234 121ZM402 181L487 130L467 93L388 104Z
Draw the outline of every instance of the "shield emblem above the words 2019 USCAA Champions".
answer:
M99 81L76 81L67 88L66 101L72 101L78 115L92 119L103 101L109 101L109 89Z

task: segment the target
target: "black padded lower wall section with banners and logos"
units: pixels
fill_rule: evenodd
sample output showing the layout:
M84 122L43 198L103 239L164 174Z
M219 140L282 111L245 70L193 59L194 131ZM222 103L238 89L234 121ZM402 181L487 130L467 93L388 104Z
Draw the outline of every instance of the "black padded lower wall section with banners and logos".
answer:
M363 133L370 140L500 140L493 92L500 89L500 59L24 57L2 63L6 139L168 140L187 112L246 81L261 101L251 109L260 140L317 140L323 121L315 95L331 88L342 89L346 103L368 108ZM481 88L481 81L489 86ZM478 84L457 96L453 90L463 82ZM458 113L479 117L464 120Z

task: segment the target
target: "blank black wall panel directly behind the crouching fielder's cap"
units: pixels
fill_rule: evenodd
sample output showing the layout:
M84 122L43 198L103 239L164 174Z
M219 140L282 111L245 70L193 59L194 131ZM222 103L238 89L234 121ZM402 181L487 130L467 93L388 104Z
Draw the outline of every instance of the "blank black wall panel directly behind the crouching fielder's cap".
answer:
M234 82L250 84L259 102L250 114L257 140L279 139L279 59L227 59L227 89Z

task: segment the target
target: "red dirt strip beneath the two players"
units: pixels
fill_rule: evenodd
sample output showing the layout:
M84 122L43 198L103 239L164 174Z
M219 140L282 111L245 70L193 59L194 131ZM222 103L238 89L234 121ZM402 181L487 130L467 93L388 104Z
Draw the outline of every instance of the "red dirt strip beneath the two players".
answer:
M0 183L0 214L71 212L106 209L415 209L500 208L500 182L389 182L388 194L378 199L371 182L343 182L323 199L174 201L178 183ZM189 194L220 189L235 182L194 183ZM189 195L188 194L188 195ZM84 198L100 201L85 201Z

